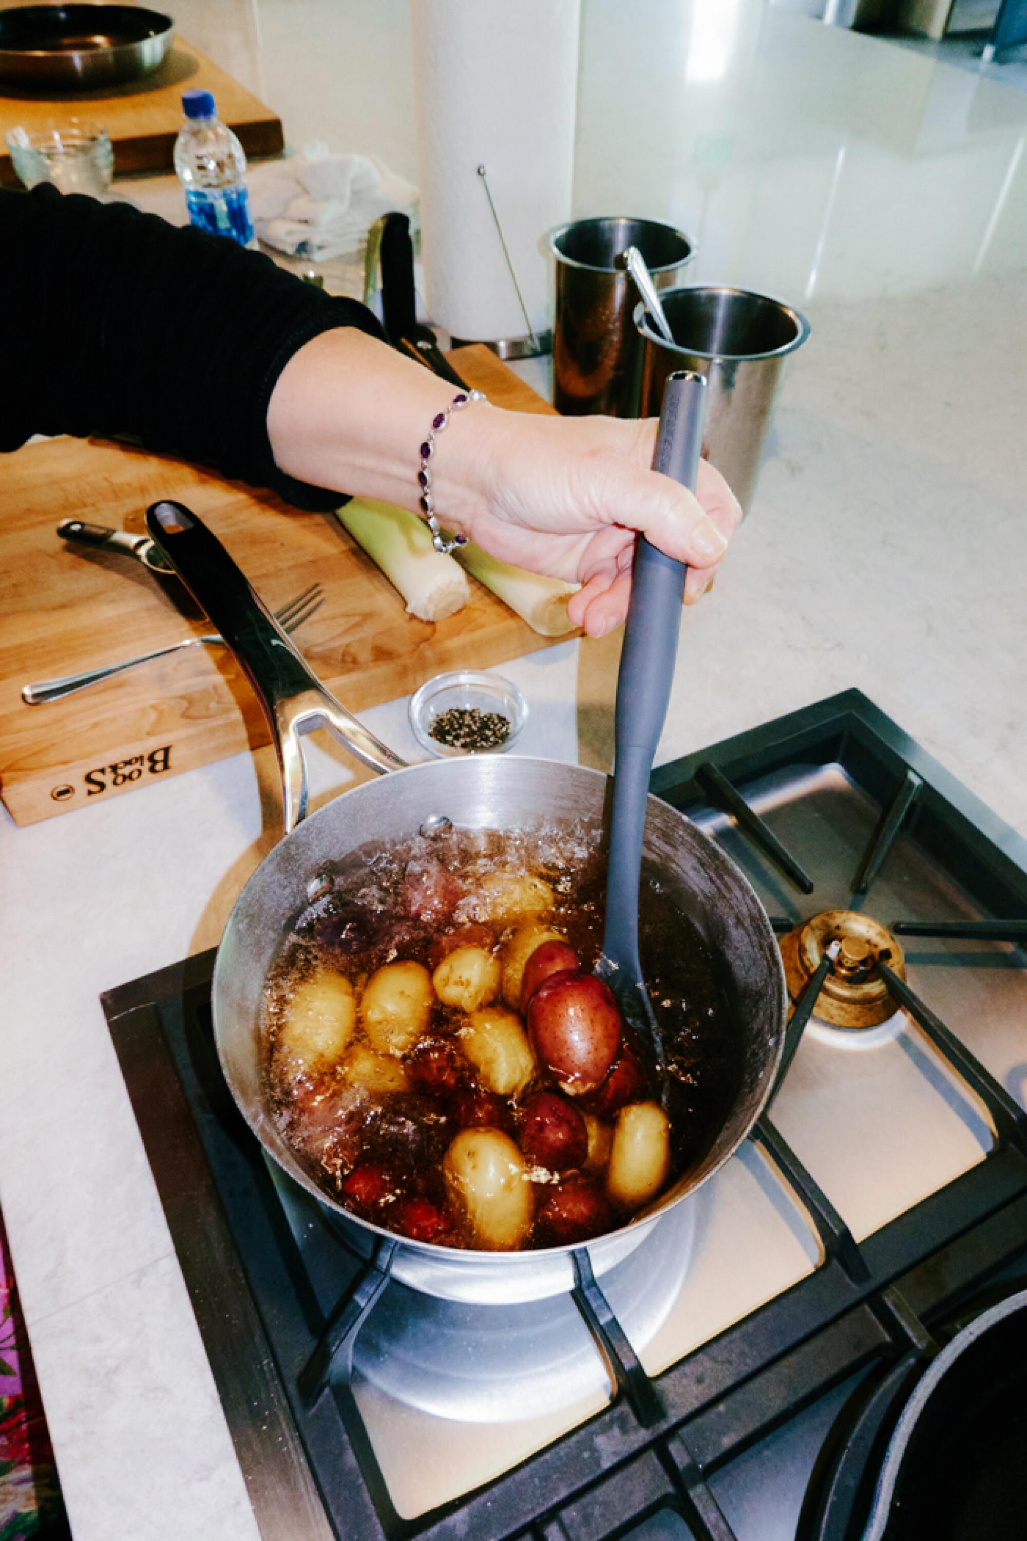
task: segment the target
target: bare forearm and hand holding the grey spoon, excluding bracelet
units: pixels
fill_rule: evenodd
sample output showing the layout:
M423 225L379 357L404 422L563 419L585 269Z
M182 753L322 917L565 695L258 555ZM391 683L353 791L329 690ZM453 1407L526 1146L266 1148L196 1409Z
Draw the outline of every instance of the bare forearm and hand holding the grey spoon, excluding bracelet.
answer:
M417 512L417 445L453 387L354 328L293 354L268 407L279 467L316 487ZM493 556L579 582L570 618L604 636L628 613L634 535L688 562L685 604L713 582L741 521L705 461L693 496L651 470L656 419L550 418L471 404L431 458L439 522Z

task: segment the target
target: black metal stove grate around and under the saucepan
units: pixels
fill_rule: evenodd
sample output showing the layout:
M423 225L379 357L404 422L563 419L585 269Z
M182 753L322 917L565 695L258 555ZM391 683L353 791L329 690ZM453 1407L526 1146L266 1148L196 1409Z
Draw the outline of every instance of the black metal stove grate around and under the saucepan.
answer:
M981 911L981 922L945 934L1024 940L1027 846L856 690L664 766L653 791L693 815L730 812L753 849L807 894L805 869L744 789L781 767L827 764L841 764L882 809L850 908L902 829ZM801 918L774 925L791 929ZM300 1253L220 1077L211 966L205 954L126 985L105 1009L265 1541L613 1541L661 1512L682 1516L701 1541L731 1541L711 1475L861 1367L927 1351L930 1322L1027 1242L1027 1117L885 969L895 999L989 1110L998 1136L989 1156L856 1244L765 1113L753 1139L819 1234L821 1267L650 1381L582 1253L577 1304L622 1395L487 1487L405 1521L350 1387L356 1331L388 1281L393 1244L365 1264L328 1211L311 1205ZM793 1014L791 1053L818 989L815 977ZM339 1281L328 1310L314 1287L325 1273Z

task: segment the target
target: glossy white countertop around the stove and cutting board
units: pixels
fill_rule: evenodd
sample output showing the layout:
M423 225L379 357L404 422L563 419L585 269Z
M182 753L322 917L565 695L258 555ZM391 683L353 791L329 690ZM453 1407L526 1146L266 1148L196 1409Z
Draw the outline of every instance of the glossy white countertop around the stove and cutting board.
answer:
M294 143L411 176L405 14L188 0L179 26ZM661 758L859 686L1027 834L1027 94L758 0L647 0L630 29L587 0L582 48L577 213L674 219L697 280L813 324L685 613ZM503 666L525 754L608 764L616 660L614 636ZM414 757L405 703L366 718ZM350 778L314 760L322 794ZM268 761L0 824L0 1204L77 1541L256 1536L97 997L217 942L277 838Z

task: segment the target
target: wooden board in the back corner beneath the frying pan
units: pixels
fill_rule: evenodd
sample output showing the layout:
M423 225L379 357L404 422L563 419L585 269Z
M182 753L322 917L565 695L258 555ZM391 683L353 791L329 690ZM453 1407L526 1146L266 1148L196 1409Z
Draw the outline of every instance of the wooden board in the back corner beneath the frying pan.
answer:
M214 92L219 117L236 129L248 156L282 153L282 123L271 108L219 69L199 48L176 37L160 69L131 85L106 91L43 91L5 80L0 94L0 183L20 186L5 148L9 128L20 123L32 131L71 117L106 128L114 145L115 176L171 171L171 153L182 128L182 92L194 88Z

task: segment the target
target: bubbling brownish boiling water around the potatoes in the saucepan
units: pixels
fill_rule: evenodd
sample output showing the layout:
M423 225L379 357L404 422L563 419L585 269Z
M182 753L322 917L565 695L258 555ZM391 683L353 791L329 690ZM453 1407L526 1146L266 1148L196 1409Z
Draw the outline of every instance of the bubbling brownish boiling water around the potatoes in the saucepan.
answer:
M465 889L445 925L413 918L400 901L410 863L425 860L439 861L447 872L456 874ZM567 935L584 969L594 969L602 943L605 854L597 832L584 828L531 834L450 829L386 849L360 848L340 863L330 888L299 917L282 948L265 991L268 1099L297 1157L336 1200L350 1202L342 1183L354 1165L374 1162L393 1174L397 1194L447 1210L442 1157L459 1123L445 1099L422 1091L360 1097L334 1074L283 1080L274 1063L274 1043L293 994L299 983L325 968L346 974L357 989L373 969L397 959L431 968L433 943L437 946L440 932L479 918L476 880L496 871L544 878L554 891L547 923ZM493 929L502 948L514 928ZM670 1187L705 1156L724 1125L741 1080L741 1039L728 1011L722 965L693 922L657 881L645 877L639 935L642 969L667 1045L664 1105L671 1122ZM454 1040L460 1016L436 1003L433 1040ZM359 1039L357 1026L354 1042ZM653 1065L647 1065L647 1074L648 1094L659 1097ZM474 1086L473 1073L470 1085ZM508 1116L514 1131L513 1102ZM554 1174L540 1176L559 1182ZM374 1217L388 1227L388 1214ZM453 1216L445 1231L431 1239L470 1245ZM536 1233L525 1241L528 1247L550 1244Z

